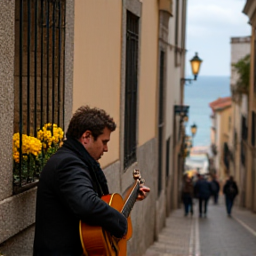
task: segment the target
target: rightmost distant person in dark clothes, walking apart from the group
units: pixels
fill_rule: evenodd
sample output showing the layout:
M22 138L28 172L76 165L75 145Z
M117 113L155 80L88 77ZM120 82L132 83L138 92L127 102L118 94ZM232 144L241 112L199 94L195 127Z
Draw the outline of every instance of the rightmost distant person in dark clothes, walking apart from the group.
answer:
M229 179L226 181L223 188L223 194L225 195L225 199L226 199L228 217L231 217L231 209L232 209L234 200L238 195L238 188L233 176L229 176Z

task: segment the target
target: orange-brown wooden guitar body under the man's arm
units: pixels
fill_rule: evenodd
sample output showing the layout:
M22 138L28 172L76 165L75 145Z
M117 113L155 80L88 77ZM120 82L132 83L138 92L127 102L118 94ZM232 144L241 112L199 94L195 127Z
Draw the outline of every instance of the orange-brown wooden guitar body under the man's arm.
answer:
M124 200L119 194L102 196L101 199L121 212ZM127 241L132 237L131 216L127 218L128 229L124 238L116 239L98 226L89 226L80 220L80 239L86 256L125 256Z

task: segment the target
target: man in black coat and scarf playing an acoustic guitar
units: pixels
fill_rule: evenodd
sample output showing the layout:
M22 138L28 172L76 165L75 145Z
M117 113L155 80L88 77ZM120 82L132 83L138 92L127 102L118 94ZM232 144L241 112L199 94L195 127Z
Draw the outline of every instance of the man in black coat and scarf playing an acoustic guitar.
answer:
M41 173L36 196L34 256L81 256L79 220L100 226L117 238L125 236L124 215L100 199L108 195L98 160L108 152L113 118L99 108L78 108L67 140ZM149 188L142 186L138 200Z

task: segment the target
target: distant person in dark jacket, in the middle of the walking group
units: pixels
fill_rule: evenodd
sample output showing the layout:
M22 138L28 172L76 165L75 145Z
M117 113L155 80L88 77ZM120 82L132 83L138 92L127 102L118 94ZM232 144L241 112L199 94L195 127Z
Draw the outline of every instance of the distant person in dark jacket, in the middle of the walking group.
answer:
M198 180L194 188L194 195L199 201L199 217L203 217L203 204L204 204L204 217L207 216L207 204L210 196L212 195L212 188L210 182L204 179L201 174L197 174Z

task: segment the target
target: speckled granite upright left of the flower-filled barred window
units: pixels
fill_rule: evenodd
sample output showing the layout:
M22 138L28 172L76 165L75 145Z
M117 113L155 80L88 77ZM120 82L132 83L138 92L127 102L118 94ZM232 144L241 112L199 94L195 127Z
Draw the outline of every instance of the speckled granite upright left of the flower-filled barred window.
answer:
M0 201L12 196L15 1L0 1Z

